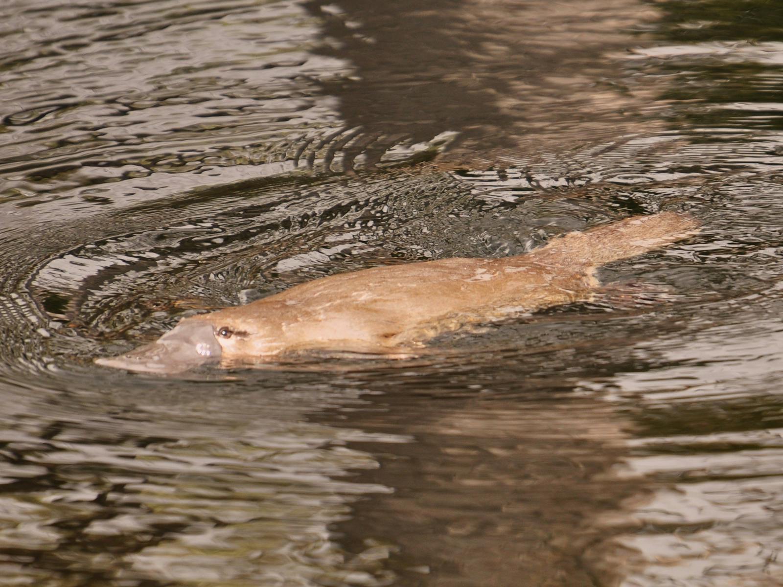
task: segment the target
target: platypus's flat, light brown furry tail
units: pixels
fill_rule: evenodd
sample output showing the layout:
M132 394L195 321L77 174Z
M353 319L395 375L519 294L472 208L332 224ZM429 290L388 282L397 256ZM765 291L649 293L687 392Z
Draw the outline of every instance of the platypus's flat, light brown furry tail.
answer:
M690 214L677 212L632 216L585 232L569 232L534 250L529 258L548 265L597 267L676 243L695 235L699 226Z

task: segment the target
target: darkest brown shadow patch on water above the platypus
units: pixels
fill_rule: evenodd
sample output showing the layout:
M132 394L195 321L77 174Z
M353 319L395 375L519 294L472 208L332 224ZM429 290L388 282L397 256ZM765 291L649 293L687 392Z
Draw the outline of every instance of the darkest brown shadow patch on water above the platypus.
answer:
M324 93L340 98L349 128L426 142L444 131L464 130L464 139L475 139L480 128L514 124L515 117L494 104L496 95L512 91L506 76L476 68L492 34L476 26L465 4L305 3L323 20L325 42L317 51L347 59L355 68L354 76L322 83ZM524 62L515 65L524 67ZM521 74L509 65L504 69ZM508 137L497 140L500 146L513 144ZM366 149L375 151L374 160L383 153L372 143Z

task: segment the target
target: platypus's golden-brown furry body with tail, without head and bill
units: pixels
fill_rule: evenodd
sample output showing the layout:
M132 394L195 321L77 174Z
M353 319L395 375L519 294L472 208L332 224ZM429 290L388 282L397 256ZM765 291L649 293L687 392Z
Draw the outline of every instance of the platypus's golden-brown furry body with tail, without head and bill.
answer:
M409 344L510 311L590 299L598 286L597 266L663 247L697 229L686 214L636 216L569 233L530 254L366 269L304 283L257 304L285 304L294 311L297 323L287 321L286 330L301 340L361 332L363 340L384 346Z

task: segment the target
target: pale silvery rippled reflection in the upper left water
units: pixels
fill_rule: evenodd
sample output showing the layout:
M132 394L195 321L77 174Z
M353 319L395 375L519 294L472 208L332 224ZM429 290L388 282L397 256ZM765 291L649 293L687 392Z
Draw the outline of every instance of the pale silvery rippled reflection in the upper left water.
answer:
M6 198L94 209L256 177L259 164L279 173L334 120L313 81L344 66L307 52L317 28L298 5L11 4Z

